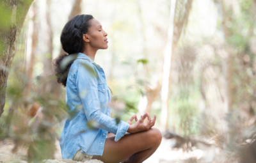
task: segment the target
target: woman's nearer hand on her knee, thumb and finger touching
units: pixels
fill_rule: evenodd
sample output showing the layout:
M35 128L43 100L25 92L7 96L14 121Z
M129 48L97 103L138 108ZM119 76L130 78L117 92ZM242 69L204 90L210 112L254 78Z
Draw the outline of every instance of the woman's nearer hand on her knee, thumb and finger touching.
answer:
M144 120L148 118L147 123L144 123ZM135 121L133 125L130 125L127 132L129 133L136 133L136 132L141 132L145 130L149 130L151 127L155 125L156 122L156 114L154 114L154 118L151 120L150 116L148 113L145 113L140 120Z

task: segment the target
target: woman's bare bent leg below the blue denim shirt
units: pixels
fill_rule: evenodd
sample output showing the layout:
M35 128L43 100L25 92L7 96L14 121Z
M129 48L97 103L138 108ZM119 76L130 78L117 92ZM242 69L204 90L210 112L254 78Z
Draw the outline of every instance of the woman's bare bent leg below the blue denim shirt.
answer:
M93 159L104 163L140 163L152 155L160 145L162 134L157 128L150 128L144 132L125 134L115 142L115 136L107 137L103 155L95 155Z

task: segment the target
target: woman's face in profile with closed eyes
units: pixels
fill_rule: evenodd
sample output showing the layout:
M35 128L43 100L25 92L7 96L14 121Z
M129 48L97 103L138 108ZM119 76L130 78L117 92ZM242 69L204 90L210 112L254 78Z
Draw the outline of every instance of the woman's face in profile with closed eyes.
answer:
M83 40L86 43L90 43L94 49L107 49L108 48L108 33L106 33L96 19L90 20L91 26L88 33L84 34Z

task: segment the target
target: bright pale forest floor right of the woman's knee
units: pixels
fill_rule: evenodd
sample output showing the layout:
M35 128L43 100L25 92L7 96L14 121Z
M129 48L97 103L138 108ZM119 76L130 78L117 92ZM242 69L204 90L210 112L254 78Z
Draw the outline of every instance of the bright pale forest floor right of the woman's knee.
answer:
M157 151L144 163L238 163L237 155L221 151L216 145L197 143L191 151L182 148L171 148L173 139L162 139Z

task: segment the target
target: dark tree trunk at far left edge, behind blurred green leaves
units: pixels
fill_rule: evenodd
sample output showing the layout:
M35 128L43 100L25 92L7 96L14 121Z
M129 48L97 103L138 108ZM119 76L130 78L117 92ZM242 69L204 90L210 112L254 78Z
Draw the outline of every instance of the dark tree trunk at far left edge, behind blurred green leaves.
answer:
M3 0L0 12L0 117L4 111L9 68L15 56L20 29L32 0Z

